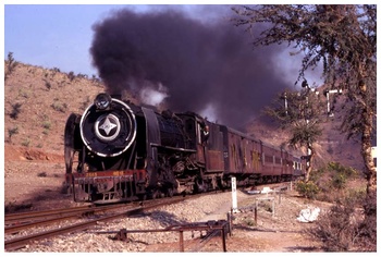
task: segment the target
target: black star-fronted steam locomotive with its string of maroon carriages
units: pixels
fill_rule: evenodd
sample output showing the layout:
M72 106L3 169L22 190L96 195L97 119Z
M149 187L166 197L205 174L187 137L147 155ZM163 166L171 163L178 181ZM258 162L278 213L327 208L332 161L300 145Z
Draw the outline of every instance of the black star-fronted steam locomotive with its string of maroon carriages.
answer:
M194 112L99 94L64 128L65 184L75 201L114 203L291 181L302 160Z

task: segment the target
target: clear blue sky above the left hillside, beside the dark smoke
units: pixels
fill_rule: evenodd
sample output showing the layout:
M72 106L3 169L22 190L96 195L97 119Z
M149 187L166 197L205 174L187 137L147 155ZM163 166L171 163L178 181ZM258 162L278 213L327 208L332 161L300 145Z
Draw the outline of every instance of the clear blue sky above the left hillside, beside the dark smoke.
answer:
M137 12L163 8L156 4L48 5L13 4L14 2L39 3L39 1L5 0L3 5L4 59L7 59L8 53L13 52L14 59L24 63L58 68L63 72L73 71L75 74L82 73L89 76L97 75L97 70L91 65L89 54L94 37L91 26L95 23L110 16L112 11L122 8ZM190 12L197 10L197 8L187 5L177 5L176 8L188 9Z

